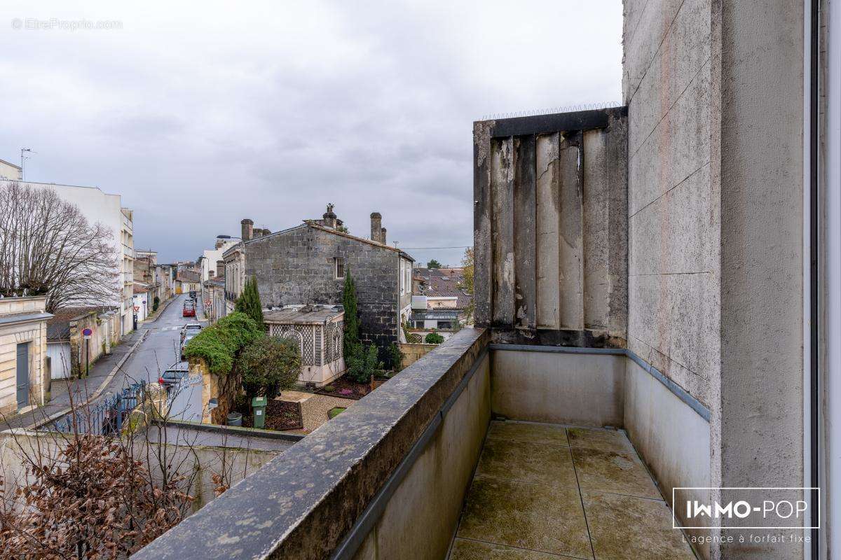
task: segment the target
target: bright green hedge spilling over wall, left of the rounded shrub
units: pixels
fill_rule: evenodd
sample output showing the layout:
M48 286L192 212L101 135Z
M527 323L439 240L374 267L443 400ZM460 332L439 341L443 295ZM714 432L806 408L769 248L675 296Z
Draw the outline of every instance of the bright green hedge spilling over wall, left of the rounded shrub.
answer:
M233 368L236 353L246 344L264 336L266 333L251 317L234 312L222 317L215 325L203 328L184 347L184 356L204 358L211 373L227 375Z

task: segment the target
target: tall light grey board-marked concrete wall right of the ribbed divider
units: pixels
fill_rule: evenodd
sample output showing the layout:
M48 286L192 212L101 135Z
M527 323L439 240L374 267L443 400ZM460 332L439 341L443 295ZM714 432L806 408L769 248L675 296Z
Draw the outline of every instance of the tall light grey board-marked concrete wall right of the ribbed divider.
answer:
M628 348L707 406L719 374L711 3L625 3Z

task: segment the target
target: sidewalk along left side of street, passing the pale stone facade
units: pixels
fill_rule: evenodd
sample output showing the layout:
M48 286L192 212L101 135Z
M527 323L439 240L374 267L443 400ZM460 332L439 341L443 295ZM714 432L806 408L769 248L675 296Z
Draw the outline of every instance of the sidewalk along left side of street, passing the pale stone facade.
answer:
M85 379L53 379L52 398L45 404L32 411L0 419L0 430L8 428L32 428L45 421L50 416L61 416L71 406L71 396L75 405L79 400L89 400L107 392L116 391L123 387L123 375L114 371L118 364L128 359L135 345L145 337L146 330L137 330L123 338L119 346L112 347L111 353L98 359L91 365L90 375ZM114 373L114 375L112 375Z

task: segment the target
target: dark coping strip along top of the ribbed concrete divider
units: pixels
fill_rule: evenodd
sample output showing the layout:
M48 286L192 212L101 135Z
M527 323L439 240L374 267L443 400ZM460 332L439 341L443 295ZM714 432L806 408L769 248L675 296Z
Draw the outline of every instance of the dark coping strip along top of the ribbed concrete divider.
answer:
M532 117L500 118L493 121L490 128L492 138L519 136L522 134L556 133L568 130L592 130L607 128L611 118L627 117L627 107L611 107L609 109L594 109L591 111L574 111L572 113L553 113L551 115L534 115Z

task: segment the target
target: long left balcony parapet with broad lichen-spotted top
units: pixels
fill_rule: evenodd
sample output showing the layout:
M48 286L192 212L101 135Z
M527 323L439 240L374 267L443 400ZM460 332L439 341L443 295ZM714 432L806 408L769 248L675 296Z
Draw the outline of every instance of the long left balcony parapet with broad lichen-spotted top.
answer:
M133 558L331 557L421 437L419 463L383 494L388 528L374 532L381 558L442 558L489 420L487 344L462 329Z

